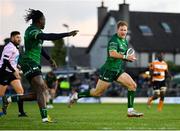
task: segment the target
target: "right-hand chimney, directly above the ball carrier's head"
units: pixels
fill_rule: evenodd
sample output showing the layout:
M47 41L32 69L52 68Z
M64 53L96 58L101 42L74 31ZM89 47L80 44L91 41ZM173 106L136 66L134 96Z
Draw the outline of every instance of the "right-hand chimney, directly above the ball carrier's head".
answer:
M119 4L119 20L127 21L129 24L129 4Z

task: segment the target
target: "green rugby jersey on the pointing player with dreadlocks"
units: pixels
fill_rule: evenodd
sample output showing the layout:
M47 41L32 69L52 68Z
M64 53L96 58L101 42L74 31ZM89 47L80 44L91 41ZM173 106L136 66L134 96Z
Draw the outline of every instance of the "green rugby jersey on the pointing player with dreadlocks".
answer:
M42 30L33 24L26 29L24 35L25 52L22 61L31 59L40 64L43 40L36 38L40 33L42 33Z

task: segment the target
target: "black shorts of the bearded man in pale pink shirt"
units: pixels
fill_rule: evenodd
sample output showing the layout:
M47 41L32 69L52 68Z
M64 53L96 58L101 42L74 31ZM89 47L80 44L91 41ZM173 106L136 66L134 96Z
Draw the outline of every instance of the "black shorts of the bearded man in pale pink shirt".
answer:
M6 70L0 69L0 84L1 85L9 85L13 80L17 78L14 76L12 72L8 72Z

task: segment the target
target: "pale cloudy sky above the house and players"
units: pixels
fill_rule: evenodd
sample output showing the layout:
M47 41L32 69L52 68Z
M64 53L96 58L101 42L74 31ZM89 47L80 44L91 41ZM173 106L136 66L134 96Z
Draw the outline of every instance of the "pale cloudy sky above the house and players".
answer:
M28 8L41 10L46 17L44 32L65 32L62 24L70 30L78 29L76 37L70 38L75 46L88 46L97 31L97 7L102 0L0 0L0 43L12 30L22 33L30 23L23 16ZM108 10L118 10L123 0L104 0ZM130 10L180 13L180 0L126 0ZM86 35L89 34L89 35ZM49 44L49 43L46 43Z

